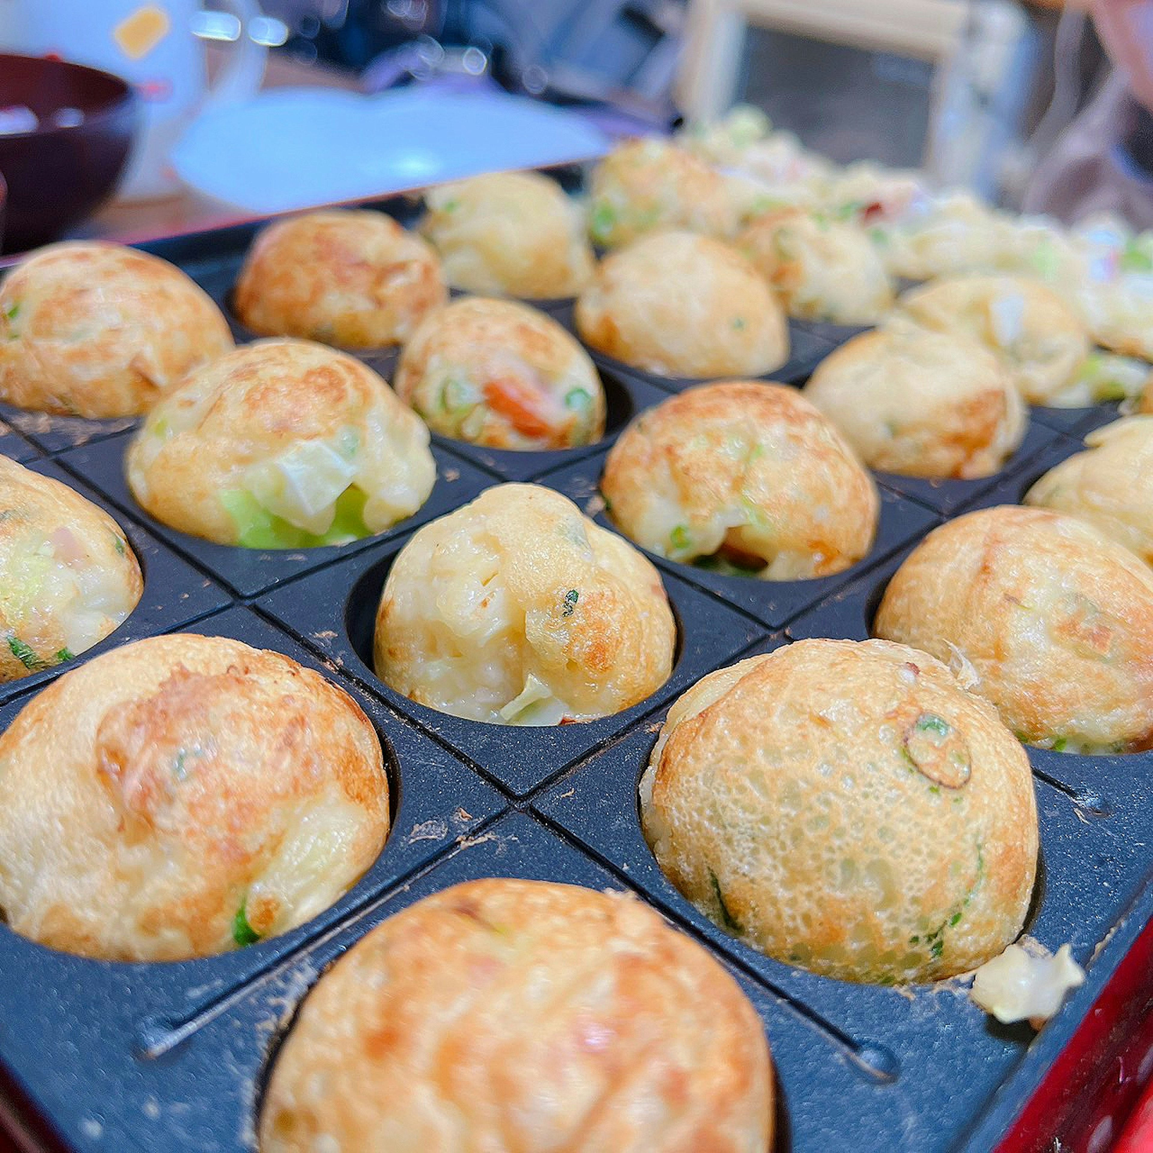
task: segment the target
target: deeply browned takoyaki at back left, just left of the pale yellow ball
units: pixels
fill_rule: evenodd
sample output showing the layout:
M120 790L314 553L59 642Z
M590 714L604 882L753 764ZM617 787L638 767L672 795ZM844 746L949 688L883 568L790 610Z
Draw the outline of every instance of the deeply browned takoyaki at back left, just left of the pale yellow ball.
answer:
M244 258L233 304L261 336L384 348L404 344L445 300L428 241L384 212L336 209L264 228Z

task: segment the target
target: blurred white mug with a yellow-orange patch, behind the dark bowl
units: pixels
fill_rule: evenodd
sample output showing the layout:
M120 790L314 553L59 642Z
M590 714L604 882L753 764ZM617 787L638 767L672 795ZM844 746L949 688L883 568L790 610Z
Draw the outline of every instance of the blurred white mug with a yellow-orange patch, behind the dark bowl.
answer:
M246 29L263 20L257 0L220 0L227 13L201 10L201 0L0 0L0 47L55 55L129 81L144 108L120 193L171 195L180 182L167 164L180 133L206 101L251 96L264 75L266 50ZM234 40L231 59L209 85L204 45Z

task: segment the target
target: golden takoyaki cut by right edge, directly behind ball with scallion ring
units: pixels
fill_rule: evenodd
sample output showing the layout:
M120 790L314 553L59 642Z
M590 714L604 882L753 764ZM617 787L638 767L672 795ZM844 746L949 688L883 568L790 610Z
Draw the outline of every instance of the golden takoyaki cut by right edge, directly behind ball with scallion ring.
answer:
M1075 517L1001 506L942 525L897 570L873 627L969 671L1031 745L1153 743L1153 572Z

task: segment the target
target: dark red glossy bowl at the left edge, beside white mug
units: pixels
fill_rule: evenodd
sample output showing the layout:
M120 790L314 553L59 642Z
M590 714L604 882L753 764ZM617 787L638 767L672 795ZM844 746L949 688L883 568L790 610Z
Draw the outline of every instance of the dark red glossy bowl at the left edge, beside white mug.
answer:
M14 105L39 125L0 133L6 253L44 244L90 216L115 187L140 119L136 95L111 73L0 53L0 108Z

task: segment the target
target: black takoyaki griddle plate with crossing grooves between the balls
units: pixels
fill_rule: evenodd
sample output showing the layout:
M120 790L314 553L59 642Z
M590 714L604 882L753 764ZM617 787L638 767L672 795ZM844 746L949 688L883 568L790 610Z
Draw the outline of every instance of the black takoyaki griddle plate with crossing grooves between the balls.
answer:
M374 206L412 221L408 199ZM143 247L174 261L227 307L255 228ZM571 324L571 302L547 308ZM796 384L846 336L819 324L793 323L790 330L793 357L775 377ZM355 354L385 372L395 359ZM144 566L136 612L78 660L141 636L189 630L235 636L319 668L376 725L394 801L380 858L344 899L292 933L236 952L176 964L97 962L0 927L7 1091L0 1123L7 1117L13 1133L23 1130L28 1147L254 1148L269 1062L324 966L419 897L493 875L632 889L729 966L764 1020L773 1048L779 1151L992 1150L1055 1058L1072 1052L1070 1040L1091 1023L1094 1002L1153 912L1153 754L1028 751L1042 867L1026 932L1053 950L1070 942L1088 973L1037 1035L1024 1025L997 1025L967 1000L960 981L856 986L770 960L726 936L656 867L640 831L636 784L668 706L692 683L794 638L866 636L886 581L927 532L973 507L1018 502L1040 472L1082 447L1079 432L1113 419L1115 406L1034 409L1022 449L986 481L880 475L874 549L836 576L760 582L654 557L678 619L677 664L654 696L615 717L510 729L406 700L374 675L371 640L389 566L412 532L504 480L556 488L611 528L596 491L608 447L631 416L692 383L596 360L609 400L601 444L513 453L434 437L437 485L415 517L370 541L297 552L210 545L148 517L123 482L131 421L0 407L0 452L68 478L107 507ZM62 671L3 686L0 728ZM1012 1147L1049 1147L1049 1136Z

